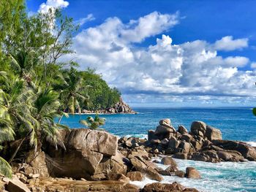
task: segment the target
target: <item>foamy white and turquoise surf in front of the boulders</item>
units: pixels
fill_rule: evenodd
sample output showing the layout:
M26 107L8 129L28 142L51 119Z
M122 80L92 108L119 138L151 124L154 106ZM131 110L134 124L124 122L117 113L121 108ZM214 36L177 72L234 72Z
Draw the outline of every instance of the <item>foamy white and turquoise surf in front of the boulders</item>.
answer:
M159 160L160 158L157 158ZM175 159L178 169L185 171L187 166L195 167L201 174L200 180L181 178L176 176L163 176L161 183L178 182L187 188L197 188L206 192L256 191L256 162L222 162L212 164L202 161ZM162 169L167 166L157 164ZM133 181L132 184L143 188L148 183L156 181L146 178L142 182Z

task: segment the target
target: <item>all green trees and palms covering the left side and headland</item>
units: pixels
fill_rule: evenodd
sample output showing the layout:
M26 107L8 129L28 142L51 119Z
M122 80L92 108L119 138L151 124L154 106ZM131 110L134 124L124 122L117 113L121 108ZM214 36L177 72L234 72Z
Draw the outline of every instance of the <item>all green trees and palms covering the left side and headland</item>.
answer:
M8 177L25 142L34 154L44 139L60 145L63 115L111 107L120 98L94 70L78 71L61 59L72 53L77 29L59 9L29 16L23 0L0 2L0 172Z

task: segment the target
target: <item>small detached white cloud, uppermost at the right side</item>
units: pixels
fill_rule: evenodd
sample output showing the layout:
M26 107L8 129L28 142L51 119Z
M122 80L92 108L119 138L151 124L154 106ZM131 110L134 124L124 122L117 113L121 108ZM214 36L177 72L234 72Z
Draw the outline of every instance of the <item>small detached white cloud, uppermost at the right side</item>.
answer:
M248 47L248 39L233 39L232 36L222 37L215 42L214 48L216 50L240 50L244 47Z

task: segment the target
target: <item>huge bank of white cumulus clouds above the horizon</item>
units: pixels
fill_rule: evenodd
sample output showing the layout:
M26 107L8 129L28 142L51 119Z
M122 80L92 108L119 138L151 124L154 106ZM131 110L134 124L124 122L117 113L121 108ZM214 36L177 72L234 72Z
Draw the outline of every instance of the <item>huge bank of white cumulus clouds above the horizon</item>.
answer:
M178 14L149 15L123 23L108 18L99 26L87 28L74 38L75 58L81 69L97 69L110 85L124 94L161 96L249 96L256 93L255 71L241 71L249 58L223 58L217 51L245 47L247 40L224 37L211 44L203 40L173 45L163 34L178 23ZM136 46L148 37L162 34L154 45ZM229 40L227 40L229 39ZM240 45L239 45L240 44ZM218 46L217 46L218 45ZM238 46L239 45L239 46ZM206 99L205 99L206 100Z

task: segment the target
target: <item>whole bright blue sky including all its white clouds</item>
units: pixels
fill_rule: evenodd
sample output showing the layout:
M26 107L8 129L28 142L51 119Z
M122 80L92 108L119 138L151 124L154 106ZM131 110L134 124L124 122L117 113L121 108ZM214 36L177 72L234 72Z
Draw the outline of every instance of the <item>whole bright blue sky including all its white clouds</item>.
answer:
M80 24L80 70L91 67L132 107L256 104L256 1L27 0Z

